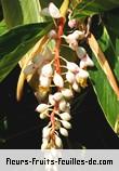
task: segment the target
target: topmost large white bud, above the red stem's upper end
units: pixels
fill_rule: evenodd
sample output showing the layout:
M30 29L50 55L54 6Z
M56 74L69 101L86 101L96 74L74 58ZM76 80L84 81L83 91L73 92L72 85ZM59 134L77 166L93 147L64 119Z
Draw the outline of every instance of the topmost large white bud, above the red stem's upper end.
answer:
M50 2L50 4L49 4L49 13L53 18L61 17L60 10L55 6L55 4L53 2Z

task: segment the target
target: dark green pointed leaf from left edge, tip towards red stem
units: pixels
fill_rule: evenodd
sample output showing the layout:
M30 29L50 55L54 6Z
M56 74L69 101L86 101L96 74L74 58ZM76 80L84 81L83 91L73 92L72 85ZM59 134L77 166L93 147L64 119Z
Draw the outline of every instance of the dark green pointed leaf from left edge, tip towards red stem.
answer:
M0 37L0 82L24 54L52 28L52 23L16 27Z

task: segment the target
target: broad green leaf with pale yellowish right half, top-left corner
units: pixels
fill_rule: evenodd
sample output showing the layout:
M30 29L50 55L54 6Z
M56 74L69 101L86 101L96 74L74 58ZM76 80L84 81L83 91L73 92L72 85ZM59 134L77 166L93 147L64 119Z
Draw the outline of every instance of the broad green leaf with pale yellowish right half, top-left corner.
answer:
M43 22L39 0L1 0L3 16L9 28Z

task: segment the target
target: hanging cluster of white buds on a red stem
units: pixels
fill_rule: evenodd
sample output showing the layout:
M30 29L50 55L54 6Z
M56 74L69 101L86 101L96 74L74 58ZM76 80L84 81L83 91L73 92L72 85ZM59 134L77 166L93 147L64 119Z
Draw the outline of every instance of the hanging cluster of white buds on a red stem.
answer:
M89 78L87 68L94 64L85 49L79 45L79 40L84 39L83 31L75 30L68 36L63 35L64 18L53 3L50 3L42 14L57 18L57 27L48 34L49 39L55 41L54 52L52 53L47 47L43 53L34 57L24 73L25 75L37 73L39 89L42 90L40 93L44 92L48 97L48 103L39 104L36 110L41 119L49 120L48 126L42 130L41 148L52 149L63 147L61 135L68 136L67 130L71 128L70 100L75 92L80 92L87 87ZM80 60L79 65L60 54L63 38L77 54Z

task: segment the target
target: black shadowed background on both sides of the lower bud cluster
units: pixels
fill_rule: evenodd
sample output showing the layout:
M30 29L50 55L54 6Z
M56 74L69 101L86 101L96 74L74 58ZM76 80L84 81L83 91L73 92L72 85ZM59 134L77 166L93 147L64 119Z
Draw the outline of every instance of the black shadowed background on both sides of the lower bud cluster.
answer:
M41 130L45 122L35 111L38 105L31 89L25 84L21 102L15 98L19 68L0 83L0 148L40 148ZM91 87L79 105L71 104L72 129L64 139L65 148L119 148L119 139L107 123Z

